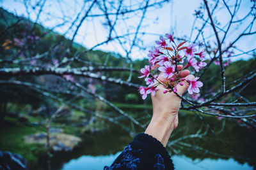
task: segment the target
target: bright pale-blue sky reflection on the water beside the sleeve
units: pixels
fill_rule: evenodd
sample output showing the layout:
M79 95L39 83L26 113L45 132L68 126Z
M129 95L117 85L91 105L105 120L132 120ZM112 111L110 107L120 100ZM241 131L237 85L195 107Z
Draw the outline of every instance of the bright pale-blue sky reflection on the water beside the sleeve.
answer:
M101 156L91 156L91 155L83 155L78 159L72 159L66 164L63 164L62 170L70 170L70 169L90 169L90 170L98 170L103 169L104 166L109 166L112 164L113 160L118 157L121 152L116 153L115 155L101 155ZM175 169L189 169L189 170L218 170L218 169L243 169L243 170L251 170L252 166L249 166L248 163L239 164L234 159L204 159L192 160L185 156L172 156L173 164L175 165Z

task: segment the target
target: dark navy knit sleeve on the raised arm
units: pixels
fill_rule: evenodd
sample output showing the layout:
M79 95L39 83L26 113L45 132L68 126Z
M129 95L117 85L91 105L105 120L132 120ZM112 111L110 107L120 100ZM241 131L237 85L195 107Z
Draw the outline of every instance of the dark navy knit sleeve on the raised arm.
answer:
M124 148L109 169L174 169L170 155L164 146L148 134L138 134Z

